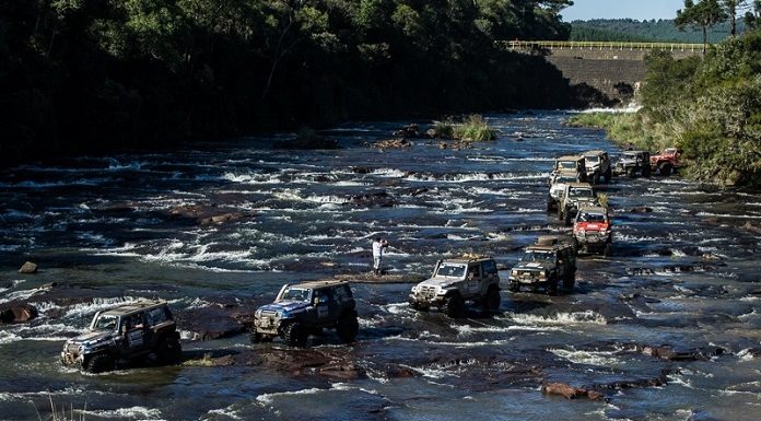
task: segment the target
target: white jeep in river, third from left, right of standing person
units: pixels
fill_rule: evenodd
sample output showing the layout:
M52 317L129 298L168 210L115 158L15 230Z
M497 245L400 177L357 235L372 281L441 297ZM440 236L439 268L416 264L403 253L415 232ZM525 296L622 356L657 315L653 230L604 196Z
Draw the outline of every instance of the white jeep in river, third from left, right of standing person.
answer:
M438 260L430 279L412 286L410 306L437 307L449 317L465 313L465 302L480 304L485 313L500 309L500 274L491 257Z

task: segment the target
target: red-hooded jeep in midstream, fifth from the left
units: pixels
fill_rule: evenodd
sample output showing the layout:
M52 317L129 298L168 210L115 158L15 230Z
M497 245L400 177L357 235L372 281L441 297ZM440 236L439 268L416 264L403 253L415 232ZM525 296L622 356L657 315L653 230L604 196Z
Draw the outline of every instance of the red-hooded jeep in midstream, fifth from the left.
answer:
M606 257L612 255L612 224L608 209L602 207L581 207L573 223L573 241L576 253L596 253Z

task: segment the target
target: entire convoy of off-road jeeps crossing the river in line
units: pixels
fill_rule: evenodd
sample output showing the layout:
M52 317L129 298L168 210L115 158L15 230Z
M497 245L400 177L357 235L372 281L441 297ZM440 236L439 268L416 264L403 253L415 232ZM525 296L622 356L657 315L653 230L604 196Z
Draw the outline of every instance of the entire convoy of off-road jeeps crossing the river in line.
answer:
M555 159L548 180L547 210L557 210L563 225L573 224L571 236L545 235L527 246L508 272L507 290L549 295L561 288L572 291L577 256L610 257L613 252L607 197L601 200L596 185L610 183L613 175L671 175L679 167L679 151L675 148L654 155L624 151L614 165L608 153L599 150ZM485 315L497 313L501 296L496 261L472 255L438 260L431 277L412 286L408 301L414 311L436 308L452 318L466 315L469 305L480 307ZM349 282L284 284L274 302L255 312L250 340L259 343L282 338L289 346L305 347L311 335L321 335L324 329L335 329L344 343L356 339L356 302ZM166 302L122 304L96 313L87 332L66 341L60 359L63 364L91 373L116 370L136 360L175 364L182 360L179 332Z

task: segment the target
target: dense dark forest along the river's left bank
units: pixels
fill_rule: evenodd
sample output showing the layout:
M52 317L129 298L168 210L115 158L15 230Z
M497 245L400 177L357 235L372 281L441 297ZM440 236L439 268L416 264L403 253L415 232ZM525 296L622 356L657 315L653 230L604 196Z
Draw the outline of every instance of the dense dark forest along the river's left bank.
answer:
M0 3L0 160L516 107L575 93L494 39L567 39L567 0Z

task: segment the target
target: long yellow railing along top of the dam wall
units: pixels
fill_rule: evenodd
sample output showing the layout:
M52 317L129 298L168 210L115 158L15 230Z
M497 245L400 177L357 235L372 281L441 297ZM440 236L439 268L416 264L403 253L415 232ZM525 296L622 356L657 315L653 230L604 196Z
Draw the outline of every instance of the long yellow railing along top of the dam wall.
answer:
M598 49L598 50L667 50L703 51L703 44L680 43L623 43L597 40L497 40L497 45L510 49Z

